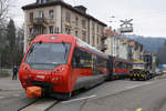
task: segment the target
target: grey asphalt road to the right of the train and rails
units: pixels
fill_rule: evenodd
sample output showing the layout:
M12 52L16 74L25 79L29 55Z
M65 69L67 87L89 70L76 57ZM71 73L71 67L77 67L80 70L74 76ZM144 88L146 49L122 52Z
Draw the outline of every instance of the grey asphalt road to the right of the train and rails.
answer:
M50 111L166 111L166 80L106 82Z

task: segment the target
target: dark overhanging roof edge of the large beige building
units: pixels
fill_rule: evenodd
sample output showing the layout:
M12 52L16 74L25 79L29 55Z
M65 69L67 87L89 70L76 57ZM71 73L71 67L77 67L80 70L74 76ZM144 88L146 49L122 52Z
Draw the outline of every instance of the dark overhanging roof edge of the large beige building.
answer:
M51 7L51 6L59 6L59 4L64 7L64 8L68 8L71 11L74 11L74 12L76 12L76 13L79 13L79 14L87 18L87 19L92 19L92 20L96 21L97 23L100 23L103 27L106 27L106 24L104 22L97 20L96 18L94 18L94 17L87 14L87 13L82 12L81 10L79 10L79 9L72 7L71 4L69 4L69 3L64 2L64 1L61 1L61 0L50 1L50 2L41 3L41 4L34 2L34 3L31 3L31 4L22 7L22 9L23 10L29 10L29 9L44 8L44 7Z

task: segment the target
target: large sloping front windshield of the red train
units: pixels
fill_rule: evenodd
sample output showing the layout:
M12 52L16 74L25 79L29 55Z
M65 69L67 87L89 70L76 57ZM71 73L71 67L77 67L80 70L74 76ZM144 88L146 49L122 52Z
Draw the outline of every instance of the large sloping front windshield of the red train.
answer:
M65 64L71 43L34 43L31 46L25 61L32 69L53 70Z

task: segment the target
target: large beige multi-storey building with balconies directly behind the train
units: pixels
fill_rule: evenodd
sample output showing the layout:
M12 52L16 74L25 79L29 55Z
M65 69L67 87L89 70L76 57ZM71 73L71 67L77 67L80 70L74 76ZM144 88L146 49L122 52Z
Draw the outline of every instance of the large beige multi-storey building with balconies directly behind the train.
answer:
M38 34L72 34L104 51L105 23L86 13L83 6L72 7L63 0L37 0L24 10L24 51Z

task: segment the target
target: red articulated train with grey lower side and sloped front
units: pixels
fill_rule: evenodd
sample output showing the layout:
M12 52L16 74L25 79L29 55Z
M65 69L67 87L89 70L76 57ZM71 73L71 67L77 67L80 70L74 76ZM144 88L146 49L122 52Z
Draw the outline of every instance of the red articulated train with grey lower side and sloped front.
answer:
M127 69L122 69L117 67L122 62L73 36L44 34L31 42L19 78L25 90L38 87L40 94L54 94L64 100L75 90L94 87L118 72L127 73L131 63L125 61ZM33 91L27 93L35 94Z

